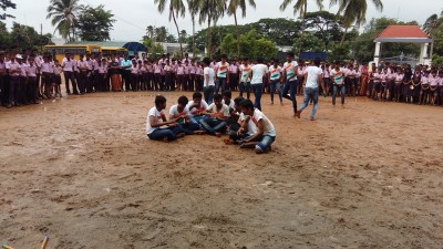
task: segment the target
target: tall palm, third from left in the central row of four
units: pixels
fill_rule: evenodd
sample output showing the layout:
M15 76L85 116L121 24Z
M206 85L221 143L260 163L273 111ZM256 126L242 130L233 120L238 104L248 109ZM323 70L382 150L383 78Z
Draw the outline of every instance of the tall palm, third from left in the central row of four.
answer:
M207 21L208 30L206 32L207 55L212 55L212 28L210 23L216 24L218 19L223 17L226 10L226 2L220 0L198 0L199 23Z

